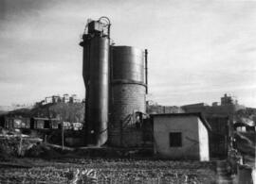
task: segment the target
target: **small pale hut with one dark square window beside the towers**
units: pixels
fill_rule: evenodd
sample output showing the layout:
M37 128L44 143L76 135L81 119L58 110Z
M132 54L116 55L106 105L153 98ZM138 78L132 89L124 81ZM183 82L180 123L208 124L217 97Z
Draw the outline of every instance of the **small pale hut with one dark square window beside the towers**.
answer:
M210 125L200 113L154 114L152 119L159 157L210 160Z

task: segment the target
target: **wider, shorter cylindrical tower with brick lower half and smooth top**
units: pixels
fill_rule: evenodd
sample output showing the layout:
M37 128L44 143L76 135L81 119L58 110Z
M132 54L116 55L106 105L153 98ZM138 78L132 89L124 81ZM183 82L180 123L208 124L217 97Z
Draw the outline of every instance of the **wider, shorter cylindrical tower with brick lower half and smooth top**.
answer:
M142 131L134 114L146 112L146 50L131 46L111 46L110 125L111 146L139 146Z

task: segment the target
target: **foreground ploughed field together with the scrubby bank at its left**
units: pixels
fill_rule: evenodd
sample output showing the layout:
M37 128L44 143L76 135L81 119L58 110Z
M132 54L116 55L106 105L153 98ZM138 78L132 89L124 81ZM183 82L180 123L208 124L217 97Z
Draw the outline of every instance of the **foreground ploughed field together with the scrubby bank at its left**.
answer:
M214 162L155 159L152 149L75 149L16 132L0 135L0 184L206 184L215 177Z

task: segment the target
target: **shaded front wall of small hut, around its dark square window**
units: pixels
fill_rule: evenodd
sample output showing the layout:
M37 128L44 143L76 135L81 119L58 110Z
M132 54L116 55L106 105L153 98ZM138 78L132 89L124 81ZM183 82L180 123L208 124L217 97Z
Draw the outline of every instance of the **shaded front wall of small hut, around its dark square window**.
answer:
M196 116L155 116L155 152L164 158L200 159ZM170 147L169 133L182 132L182 147Z

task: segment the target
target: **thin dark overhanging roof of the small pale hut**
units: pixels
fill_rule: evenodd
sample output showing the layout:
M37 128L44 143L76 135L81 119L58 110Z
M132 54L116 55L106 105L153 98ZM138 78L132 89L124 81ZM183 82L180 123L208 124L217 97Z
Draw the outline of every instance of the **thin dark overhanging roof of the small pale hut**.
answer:
M152 117L163 117L163 116L167 116L167 117L187 117L187 116L196 116L198 117L203 125L206 126L206 128L208 130L211 130L210 124L208 123L208 121L205 119L205 117L202 115L202 113L200 112L193 112L193 113L164 113L164 114L151 114Z

